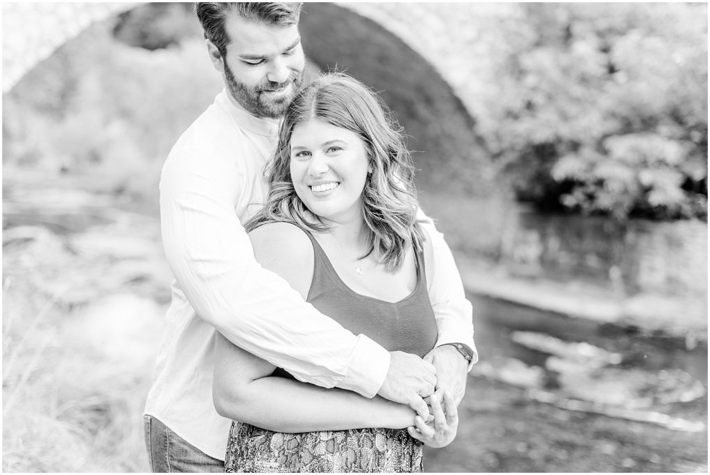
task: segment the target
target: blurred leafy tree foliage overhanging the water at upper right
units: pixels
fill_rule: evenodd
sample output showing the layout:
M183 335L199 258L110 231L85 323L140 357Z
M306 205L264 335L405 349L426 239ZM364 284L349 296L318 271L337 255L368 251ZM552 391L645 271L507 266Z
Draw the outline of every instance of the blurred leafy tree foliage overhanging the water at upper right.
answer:
M704 217L704 4L525 4L501 28L487 142L518 196L585 214Z

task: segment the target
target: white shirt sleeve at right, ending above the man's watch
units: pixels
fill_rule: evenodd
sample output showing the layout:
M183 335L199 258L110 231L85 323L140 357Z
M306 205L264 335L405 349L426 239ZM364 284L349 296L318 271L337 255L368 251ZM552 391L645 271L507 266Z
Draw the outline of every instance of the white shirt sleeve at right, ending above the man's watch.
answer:
M473 359L469 363L470 371L479 359L471 318L473 307L471 302L466 300L459 269L454 262L451 249L444 241L444 235L436 229L432 219L427 217L421 208L417 210L417 219L420 219L432 242L432 263L427 263L427 266L432 275L429 299L432 302L439 332L436 346L448 343L463 343L470 346L474 351Z

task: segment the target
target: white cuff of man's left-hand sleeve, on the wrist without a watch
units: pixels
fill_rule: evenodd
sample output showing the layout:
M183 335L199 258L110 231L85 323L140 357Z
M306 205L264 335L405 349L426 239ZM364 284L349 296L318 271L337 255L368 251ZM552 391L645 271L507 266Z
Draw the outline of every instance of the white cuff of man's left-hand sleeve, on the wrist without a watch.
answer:
M357 339L347 373L336 386L373 398L385 382L390 353L364 334Z

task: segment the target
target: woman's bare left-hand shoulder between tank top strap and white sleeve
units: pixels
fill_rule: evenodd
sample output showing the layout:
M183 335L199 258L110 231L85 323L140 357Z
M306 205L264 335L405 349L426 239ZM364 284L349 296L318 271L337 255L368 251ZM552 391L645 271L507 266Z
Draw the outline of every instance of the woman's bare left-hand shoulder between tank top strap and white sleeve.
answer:
M308 295L313 278L313 245L295 224L271 222L249 232L254 258L261 266L284 278L289 285Z

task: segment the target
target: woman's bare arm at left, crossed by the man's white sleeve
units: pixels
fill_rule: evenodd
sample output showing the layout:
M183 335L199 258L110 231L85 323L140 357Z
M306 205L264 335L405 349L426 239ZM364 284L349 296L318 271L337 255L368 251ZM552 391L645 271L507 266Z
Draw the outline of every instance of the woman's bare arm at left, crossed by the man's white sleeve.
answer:
M263 268L285 278L305 299L313 277L313 247L297 227L272 223L249 234ZM288 318L288 315L282 315ZM403 428L413 424L408 406L376 396L271 376L275 366L217 334L212 395L217 413L278 432Z

